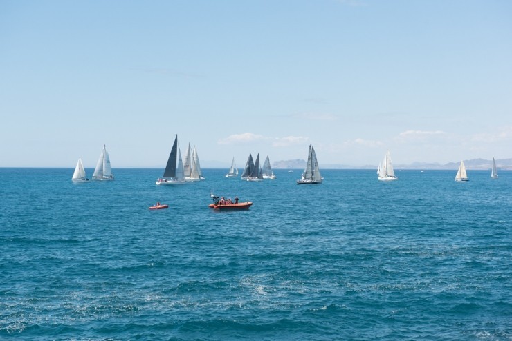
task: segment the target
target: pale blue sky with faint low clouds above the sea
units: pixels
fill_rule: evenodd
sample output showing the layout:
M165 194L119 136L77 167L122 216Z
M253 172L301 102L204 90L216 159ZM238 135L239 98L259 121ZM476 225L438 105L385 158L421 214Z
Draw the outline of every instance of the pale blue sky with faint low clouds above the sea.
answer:
M0 2L0 166L512 157L512 1Z

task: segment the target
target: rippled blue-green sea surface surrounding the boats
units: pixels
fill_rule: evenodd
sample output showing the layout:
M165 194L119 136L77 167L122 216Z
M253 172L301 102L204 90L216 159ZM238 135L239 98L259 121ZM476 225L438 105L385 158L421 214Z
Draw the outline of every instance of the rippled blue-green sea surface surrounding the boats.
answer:
M0 168L0 339L512 340L512 173L113 171Z

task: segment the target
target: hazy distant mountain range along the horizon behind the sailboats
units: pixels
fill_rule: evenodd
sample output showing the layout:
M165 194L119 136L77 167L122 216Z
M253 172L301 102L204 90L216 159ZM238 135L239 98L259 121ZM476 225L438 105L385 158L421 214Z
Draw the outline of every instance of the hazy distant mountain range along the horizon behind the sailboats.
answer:
M448 164L413 162L412 164L394 164L395 169L455 169L459 168L460 162L449 162ZM464 160L467 169L486 170L491 169L493 160L470 159ZM512 170L512 159L497 159L496 166L498 170ZM303 159L282 160L273 162L272 168L301 169L306 167L306 161ZM320 169L376 169L375 164L364 166L351 166L347 164L320 164Z

